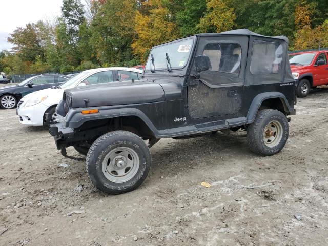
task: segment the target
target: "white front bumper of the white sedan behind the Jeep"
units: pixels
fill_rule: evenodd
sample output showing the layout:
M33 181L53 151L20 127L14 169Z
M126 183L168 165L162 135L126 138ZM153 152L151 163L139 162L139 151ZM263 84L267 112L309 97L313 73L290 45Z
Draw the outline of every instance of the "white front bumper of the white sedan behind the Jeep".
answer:
M44 115L48 106L38 103L33 106L24 107L24 103L17 108L19 122L28 126L43 126Z

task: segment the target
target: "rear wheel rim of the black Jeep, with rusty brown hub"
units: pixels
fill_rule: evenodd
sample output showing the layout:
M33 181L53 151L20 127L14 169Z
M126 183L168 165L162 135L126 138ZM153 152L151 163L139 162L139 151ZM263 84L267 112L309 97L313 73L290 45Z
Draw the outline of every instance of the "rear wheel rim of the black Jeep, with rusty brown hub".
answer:
M263 131L264 144L270 148L276 147L282 139L282 125L280 122L271 121Z

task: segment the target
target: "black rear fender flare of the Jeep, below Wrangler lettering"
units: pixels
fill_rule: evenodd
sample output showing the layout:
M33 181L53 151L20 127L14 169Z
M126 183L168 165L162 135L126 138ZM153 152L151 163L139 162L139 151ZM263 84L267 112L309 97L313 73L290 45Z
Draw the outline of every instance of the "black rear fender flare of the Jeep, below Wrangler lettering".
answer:
M264 92L258 94L252 101L252 104L250 106L250 109L247 113L247 124L251 124L254 122L256 114L261 107L261 104L264 100L266 99L271 99L271 98L279 98L281 100L281 103L283 104L283 108L288 114L294 115L295 114L295 109L291 108L291 106L288 103L287 98L285 97L284 94L280 92Z

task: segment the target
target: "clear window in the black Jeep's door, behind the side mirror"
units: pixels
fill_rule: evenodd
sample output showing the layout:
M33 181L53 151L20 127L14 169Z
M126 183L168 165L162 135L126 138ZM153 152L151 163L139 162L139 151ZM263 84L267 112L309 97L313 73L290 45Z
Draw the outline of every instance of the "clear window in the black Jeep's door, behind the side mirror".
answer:
M236 43L209 43L202 52L210 58L210 70L239 74L241 47Z

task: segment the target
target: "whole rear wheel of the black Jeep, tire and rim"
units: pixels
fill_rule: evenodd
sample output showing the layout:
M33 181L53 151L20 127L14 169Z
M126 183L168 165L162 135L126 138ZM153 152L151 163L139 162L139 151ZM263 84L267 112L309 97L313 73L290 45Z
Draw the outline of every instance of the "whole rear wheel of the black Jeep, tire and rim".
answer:
M256 154L269 156L282 150L289 134L287 117L278 110L260 110L247 128L248 145Z

